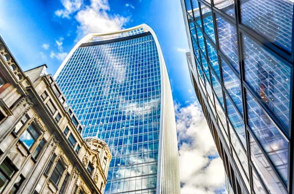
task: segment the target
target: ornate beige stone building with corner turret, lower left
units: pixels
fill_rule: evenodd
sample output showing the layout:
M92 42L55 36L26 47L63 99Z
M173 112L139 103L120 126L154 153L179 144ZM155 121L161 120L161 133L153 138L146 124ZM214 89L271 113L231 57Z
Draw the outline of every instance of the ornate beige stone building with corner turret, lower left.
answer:
M0 194L102 194L110 150L82 139L46 68L23 72L0 38Z

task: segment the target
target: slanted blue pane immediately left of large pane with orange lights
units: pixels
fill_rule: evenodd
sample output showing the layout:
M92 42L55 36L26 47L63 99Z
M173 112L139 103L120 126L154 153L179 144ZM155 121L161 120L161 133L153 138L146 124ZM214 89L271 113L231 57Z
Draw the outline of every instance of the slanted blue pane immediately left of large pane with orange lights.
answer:
M236 28L218 15L216 15L216 21L220 49L235 70L240 73Z

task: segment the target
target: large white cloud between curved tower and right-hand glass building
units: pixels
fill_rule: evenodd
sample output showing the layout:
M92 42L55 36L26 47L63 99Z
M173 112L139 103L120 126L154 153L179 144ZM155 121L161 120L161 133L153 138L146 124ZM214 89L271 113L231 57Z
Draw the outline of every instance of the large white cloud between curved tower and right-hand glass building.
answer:
M221 158L197 101L187 107L175 104L179 143L181 194L214 194L224 189ZM209 156L215 156L210 159Z

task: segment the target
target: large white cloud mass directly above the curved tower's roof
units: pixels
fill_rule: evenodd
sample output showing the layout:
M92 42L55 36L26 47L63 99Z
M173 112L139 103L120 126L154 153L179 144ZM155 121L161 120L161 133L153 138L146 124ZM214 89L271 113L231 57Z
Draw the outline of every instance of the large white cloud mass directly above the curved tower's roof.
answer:
M116 14L109 14L110 10L108 0L90 0L90 5L82 5L81 0L62 0L64 9L57 10L56 16L62 18L71 18L76 12L74 18L79 23L77 25L77 40L88 33L102 33L118 31L129 21Z

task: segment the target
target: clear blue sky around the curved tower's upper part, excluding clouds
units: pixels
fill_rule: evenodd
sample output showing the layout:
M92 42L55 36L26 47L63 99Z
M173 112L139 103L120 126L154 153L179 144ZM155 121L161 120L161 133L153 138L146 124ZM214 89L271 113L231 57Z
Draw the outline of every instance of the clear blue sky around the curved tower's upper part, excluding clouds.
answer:
M2 0L0 7L0 35L23 68L28 70L46 63L48 72L54 74L81 36L73 12L68 18L58 17L56 10L64 9L59 0ZM105 0L98 0L103 2ZM195 97L186 63L188 42L180 0L110 0L110 16L126 18L123 28L148 24L155 31L167 64L172 82L173 98L185 104ZM14 11L9 11L14 5ZM90 6L84 1L82 6ZM127 6L128 5L128 6ZM2 10L1 10L2 9ZM62 50L56 41L62 42ZM45 44L48 49L42 48ZM47 47L46 47L47 48ZM51 51L55 53L50 57ZM58 53L64 53L57 56ZM51 55L52 56L52 55ZM59 58L59 59L58 59Z

